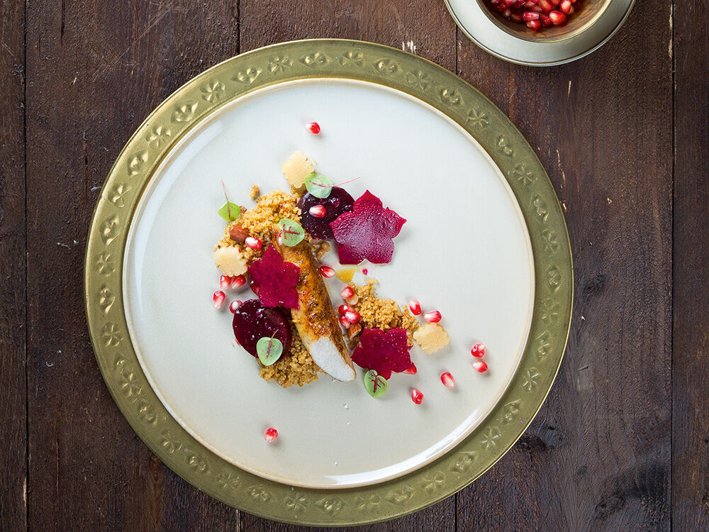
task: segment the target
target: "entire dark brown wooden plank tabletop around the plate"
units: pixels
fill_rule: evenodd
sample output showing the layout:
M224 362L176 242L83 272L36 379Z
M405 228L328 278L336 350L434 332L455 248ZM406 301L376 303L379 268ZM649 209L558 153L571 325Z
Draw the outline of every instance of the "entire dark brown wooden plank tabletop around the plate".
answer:
M601 50L550 68L479 50L442 0L0 8L0 529L296 529L210 499L135 436L89 345L82 262L99 187L165 96L325 36L414 50L508 113L576 265L566 358L525 436L455 497L371 528L709 528L707 1L640 1Z

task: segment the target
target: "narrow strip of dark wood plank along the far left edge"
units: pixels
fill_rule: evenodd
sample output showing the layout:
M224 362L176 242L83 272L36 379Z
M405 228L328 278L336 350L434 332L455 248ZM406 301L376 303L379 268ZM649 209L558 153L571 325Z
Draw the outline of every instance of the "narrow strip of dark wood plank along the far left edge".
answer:
M27 517L25 7L0 0L0 528Z

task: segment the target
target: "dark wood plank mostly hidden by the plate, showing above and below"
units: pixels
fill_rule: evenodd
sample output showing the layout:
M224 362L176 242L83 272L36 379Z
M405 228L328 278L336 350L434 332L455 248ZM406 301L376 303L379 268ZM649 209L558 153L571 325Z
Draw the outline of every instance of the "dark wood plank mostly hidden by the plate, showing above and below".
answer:
M352 38L415 51L455 70L455 25L440 1L364 0L301 2L240 0L242 52L284 40ZM455 499L372 530L453 530ZM255 516L243 515L243 526L258 531L298 531Z

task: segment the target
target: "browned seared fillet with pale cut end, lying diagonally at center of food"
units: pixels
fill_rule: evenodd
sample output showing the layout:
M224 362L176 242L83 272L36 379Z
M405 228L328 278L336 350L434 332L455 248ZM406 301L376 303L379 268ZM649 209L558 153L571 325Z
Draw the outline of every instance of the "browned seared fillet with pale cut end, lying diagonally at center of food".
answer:
M274 235L274 242L278 239ZM289 248L279 245L283 260L301 269L298 279L298 309L291 309L303 344L320 369L337 380L348 381L357 377L340 332L340 324L323 276L318 272L316 258L310 243L303 240Z

